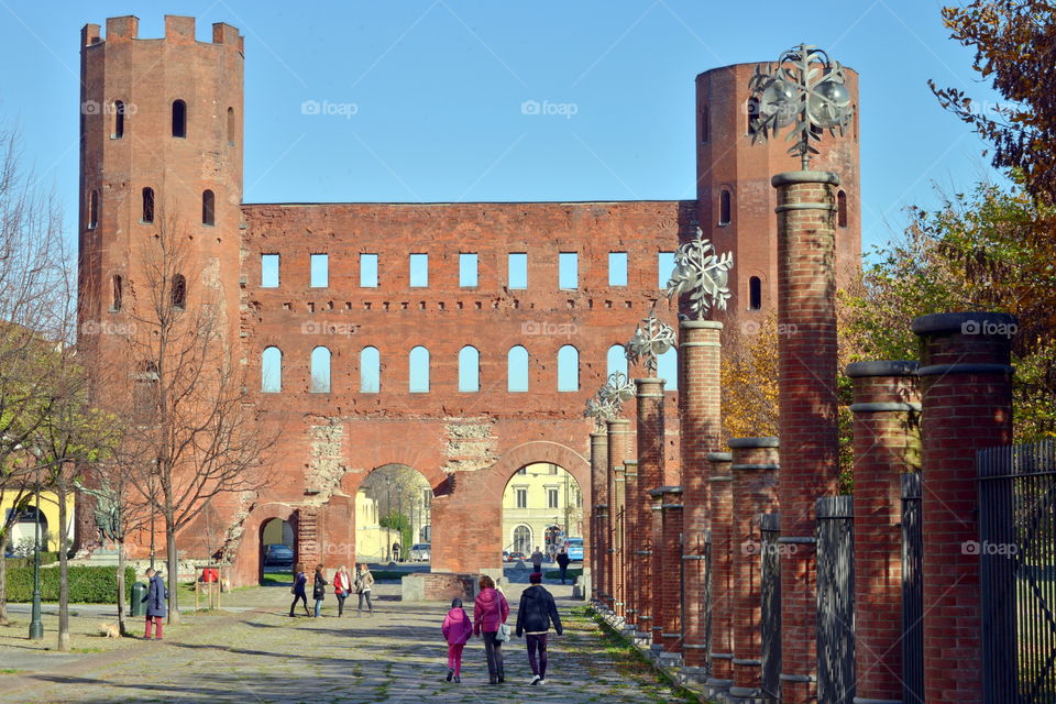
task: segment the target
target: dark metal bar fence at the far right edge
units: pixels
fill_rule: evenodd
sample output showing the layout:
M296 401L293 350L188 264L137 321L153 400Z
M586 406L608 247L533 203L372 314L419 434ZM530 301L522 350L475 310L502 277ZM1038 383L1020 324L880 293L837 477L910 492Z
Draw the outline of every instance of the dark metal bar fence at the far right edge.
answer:
M981 450L978 554L987 702L1056 703L1056 441Z

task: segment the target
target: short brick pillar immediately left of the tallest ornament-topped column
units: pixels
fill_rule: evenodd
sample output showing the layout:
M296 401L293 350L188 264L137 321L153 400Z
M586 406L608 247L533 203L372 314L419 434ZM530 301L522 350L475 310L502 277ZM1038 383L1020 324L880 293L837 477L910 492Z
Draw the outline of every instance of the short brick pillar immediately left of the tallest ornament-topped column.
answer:
M735 438L730 470L734 537L734 676L729 700L763 704L762 530L760 516L778 513L778 439Z

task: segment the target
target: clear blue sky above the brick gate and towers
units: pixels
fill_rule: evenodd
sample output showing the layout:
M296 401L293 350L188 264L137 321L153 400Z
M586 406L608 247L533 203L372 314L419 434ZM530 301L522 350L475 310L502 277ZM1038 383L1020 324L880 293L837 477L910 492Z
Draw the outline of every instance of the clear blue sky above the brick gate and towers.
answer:
M799 8L799 9L798 9ZM245 201L693 196L693 78L801 41L861 74L864 244L990 173L927 88L994 100L931 0L18 2L0 0L0 123L76 227L79 30L163 13L245 35ZM525 114L526 101L554 106ZM314 103L310 101L315 101ZM319 114L302 106L317 105ZM791 165L791 160L790 160Z

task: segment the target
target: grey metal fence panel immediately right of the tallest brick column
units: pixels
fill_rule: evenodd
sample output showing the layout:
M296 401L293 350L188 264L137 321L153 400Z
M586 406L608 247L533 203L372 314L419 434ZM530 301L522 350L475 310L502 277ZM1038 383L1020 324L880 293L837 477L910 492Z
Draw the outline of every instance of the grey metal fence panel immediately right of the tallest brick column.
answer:
M855 698L854 499L817 499L817 701Z

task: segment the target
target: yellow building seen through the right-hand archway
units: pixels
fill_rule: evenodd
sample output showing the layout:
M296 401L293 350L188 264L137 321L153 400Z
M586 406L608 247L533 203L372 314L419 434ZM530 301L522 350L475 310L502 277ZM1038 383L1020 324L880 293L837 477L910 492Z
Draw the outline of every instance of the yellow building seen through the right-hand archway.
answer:
M557 464L529 464L517 471L503 494L503 550L530 556L547 552L547 530L583 536L583 494L575 479Z

